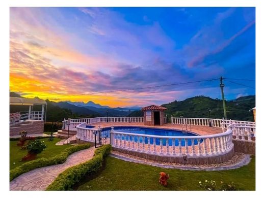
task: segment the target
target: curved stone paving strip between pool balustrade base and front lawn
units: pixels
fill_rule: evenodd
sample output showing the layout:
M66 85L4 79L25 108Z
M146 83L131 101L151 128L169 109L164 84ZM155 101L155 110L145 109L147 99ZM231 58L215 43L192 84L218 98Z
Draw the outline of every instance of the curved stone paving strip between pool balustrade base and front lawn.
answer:
M193 171L223 171L223 170L237 169L247 165L251 160L250 155L244 153L234 153L234 156L230 160L215 164L181 164L181 163L159 162L159 161L153 161L141 157L124 154L118 151L112 151L110 156L122 159L124 161L142 163L154 167L161 167L166 169L193 170Z

